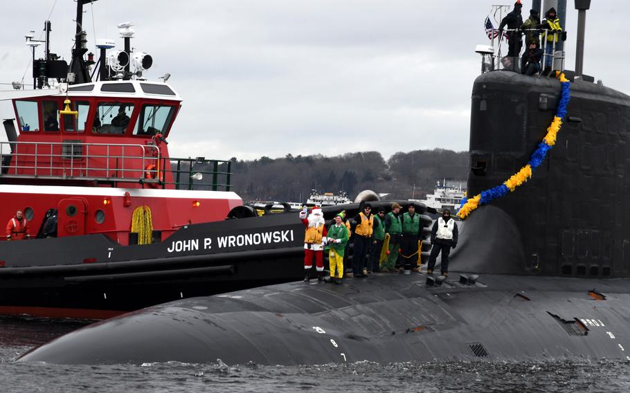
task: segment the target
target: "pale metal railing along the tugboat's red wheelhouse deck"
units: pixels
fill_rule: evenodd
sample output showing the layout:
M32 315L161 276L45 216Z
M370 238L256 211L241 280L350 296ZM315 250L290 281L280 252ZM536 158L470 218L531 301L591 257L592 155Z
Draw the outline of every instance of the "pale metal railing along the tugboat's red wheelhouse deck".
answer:
M159 183L159 171L147 168L160 158L155 145L0 142L0 178Z

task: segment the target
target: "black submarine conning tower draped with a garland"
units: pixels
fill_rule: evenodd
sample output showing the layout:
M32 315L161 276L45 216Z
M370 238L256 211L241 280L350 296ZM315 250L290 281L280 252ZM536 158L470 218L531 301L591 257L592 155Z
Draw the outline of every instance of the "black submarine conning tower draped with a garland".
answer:
M477 77L471 99L469 195L500 185L528 162L560 94L553 78L511 71ZM629 131L630 97L576 78L546 161L523 186L471 214L458 254L465 248L475 253L466 253L467 260L453 267L629 277Z

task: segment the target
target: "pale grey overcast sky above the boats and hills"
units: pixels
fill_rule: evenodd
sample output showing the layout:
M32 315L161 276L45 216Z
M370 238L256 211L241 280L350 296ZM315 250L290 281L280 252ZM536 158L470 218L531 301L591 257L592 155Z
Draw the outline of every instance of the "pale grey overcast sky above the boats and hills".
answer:
M48 15L51 51L69 57L75 3L53 3L3 1L1 83L21 80L30 67L24 34L35 30L39 37ZM122 48L116 24L133 21L132 46L154 58L145 76L172 75L183 106L170 135L171 156L376 150L388 158L415 149L468 149L471 86L480 70L474 48L489 44L483 21L492 3L502 2L99 0L86 6L84 27L96 53L95 30ZM523 1L523 19L531 4ZM575 64L573 7L568 0L568 69ZM630 33L623 28L629 15L630 1L593 0L586 28L584 73L624 93L630 93L623 71L630 64ZM30 68L25 82L32 82ZM6 104L0 109L2 118L14 116Z

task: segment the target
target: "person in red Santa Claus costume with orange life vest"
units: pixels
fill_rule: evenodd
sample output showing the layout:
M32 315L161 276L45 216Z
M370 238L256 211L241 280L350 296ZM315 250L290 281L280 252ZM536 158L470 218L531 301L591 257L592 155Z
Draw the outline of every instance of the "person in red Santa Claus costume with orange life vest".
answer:
M326 226L324 214L317 206L309 213L306 208L300 212L300 220L306 227L304 233L304 281L310 279L310 271L313 267L313 257L315 257L315 267L321 275L324 271L323 249L326 244Z

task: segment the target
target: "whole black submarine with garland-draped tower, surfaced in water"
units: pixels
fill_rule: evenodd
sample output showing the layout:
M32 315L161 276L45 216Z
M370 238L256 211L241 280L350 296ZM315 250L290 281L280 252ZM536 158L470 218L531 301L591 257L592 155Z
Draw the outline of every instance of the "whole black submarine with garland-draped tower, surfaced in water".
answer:
M579 46L590 1L575 6ZM630 97L581 64L558 79L500 69L476 78L474 209L458 212L448 277L375 273L188 298L89 325L18 361L630 360ZM541 147L556 118L553 149Z

